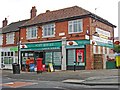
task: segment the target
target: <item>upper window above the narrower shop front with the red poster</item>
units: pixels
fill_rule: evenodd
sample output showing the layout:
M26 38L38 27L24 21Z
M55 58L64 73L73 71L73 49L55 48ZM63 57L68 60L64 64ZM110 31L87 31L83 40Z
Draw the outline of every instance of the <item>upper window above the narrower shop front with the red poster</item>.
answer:
M68 33L79 33L82 32L82 20L73 20L68 22Z

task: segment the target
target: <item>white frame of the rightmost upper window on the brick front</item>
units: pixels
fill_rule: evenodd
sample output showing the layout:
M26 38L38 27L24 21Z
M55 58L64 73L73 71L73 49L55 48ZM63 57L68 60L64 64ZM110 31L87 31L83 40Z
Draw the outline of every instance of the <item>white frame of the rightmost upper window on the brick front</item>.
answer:
M77 23L76 23L77 22ZM80 23L78 23L80 22ZM79 24L80 24L80 31L79 31ZM75 32L74 26L77 25L77 31ZM70 31L70 26L71 26L71 31ZM68 21L68 34L73 34L73 33L81 33L83 32L83 20L78 19L78 20L72 20Z

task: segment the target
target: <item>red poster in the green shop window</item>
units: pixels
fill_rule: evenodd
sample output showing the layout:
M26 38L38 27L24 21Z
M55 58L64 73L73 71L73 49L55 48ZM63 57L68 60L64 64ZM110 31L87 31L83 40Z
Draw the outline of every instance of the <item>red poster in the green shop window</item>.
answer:
M76 62L83 63L84 62L84 49L77 49L76 50Z

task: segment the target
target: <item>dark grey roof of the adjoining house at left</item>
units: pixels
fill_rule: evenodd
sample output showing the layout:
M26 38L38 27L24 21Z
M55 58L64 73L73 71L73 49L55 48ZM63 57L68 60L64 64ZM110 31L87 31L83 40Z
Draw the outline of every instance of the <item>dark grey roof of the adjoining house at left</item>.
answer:
M29 19L18 21L18 22L13 22L5 27L2 28L2 33L9 33L9 32L15 32L19 31L19 26L27 22Z

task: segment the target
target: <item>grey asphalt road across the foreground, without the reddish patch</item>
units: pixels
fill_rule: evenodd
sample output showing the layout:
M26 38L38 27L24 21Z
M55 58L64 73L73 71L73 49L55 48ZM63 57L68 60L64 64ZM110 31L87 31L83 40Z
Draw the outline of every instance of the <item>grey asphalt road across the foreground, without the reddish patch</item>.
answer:
M21 87L8 87L3 86L2 90L119 90L118 86L87 86L87 85L79 85L79 84L68 84L62 83L60 81L39 81L39 80L22 80L22 79L11 79L11 78L2 78L2 83L11 83L11 82L30 82L32 85L21 86Z

